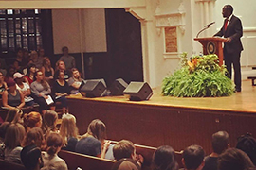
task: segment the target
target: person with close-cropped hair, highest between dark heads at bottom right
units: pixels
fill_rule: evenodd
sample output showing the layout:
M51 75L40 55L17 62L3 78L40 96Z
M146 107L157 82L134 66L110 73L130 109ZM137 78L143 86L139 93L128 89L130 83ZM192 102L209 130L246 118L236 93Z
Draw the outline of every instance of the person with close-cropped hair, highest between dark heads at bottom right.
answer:
M203 170L217 170L219 155L229 148L229 134L226 131L218 131L212 135L213 152L205 158Z

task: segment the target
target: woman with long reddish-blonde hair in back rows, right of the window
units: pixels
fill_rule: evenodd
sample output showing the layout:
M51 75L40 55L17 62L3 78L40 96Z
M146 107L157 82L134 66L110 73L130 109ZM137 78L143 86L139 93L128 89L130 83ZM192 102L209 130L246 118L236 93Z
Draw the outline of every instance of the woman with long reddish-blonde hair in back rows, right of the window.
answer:
M50 80L52 80L54 76L54 69L51 67L50 59L47 57L43 59L42 72L45 76L46 81L50 83Z

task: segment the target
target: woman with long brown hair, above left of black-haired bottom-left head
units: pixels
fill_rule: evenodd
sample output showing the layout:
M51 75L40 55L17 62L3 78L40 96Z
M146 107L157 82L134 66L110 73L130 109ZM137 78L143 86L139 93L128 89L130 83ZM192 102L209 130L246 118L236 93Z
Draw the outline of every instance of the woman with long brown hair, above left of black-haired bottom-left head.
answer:
M22 150L21 144L25 136L25 128L17 123L11 123L5 136L5 160L21 163L20 153Z

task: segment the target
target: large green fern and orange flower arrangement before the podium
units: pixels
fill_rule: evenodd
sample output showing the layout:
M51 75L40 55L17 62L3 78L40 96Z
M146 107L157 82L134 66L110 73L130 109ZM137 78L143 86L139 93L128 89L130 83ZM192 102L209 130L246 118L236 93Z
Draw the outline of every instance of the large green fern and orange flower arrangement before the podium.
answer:
M162 94L177 97L229 96L234 91L233 82L226 76L225 66L219 66L217 55L181 55L181 68L162 82Z

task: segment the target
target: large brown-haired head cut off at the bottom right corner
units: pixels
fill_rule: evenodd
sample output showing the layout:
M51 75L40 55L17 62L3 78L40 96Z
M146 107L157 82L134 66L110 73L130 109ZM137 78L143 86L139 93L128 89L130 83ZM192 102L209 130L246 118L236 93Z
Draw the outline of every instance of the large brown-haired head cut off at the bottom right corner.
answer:
M245 152L237 148L229 148L218 158L218 170L254 169L253 163Z

